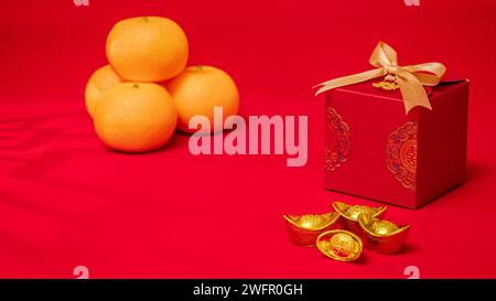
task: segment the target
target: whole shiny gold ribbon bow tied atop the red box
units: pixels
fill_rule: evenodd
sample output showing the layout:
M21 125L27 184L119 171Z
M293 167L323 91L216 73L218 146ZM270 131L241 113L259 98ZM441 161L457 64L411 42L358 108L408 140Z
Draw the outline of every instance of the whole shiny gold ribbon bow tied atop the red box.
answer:
M315 95L330 89L366 82L386 76L386 80L396 80L401 90L407 114L416 106L432 109L423 86L435 86L441 82L446 67L441 63L424 63L411 66L398 66L396 51L384 42L379 42L370 55L369 63L376 69L338 77L316 85Z

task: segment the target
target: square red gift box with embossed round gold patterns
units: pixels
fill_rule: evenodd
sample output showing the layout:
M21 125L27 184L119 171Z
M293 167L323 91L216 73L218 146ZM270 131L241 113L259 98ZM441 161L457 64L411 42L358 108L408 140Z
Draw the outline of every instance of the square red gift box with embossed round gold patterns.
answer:
M468 82L424 87L432 109L406 115L405 93L373 86L381 80L326 93L325 185L418 208L464 181Z

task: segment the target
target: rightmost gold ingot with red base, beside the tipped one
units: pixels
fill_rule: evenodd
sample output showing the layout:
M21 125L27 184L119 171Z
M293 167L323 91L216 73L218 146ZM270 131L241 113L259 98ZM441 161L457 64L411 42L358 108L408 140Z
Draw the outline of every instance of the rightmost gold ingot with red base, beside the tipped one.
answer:
M358 216L358 224L366 235L367 248L382 254L398 252L405 245L410 230L409 225L398 226L366 214Z

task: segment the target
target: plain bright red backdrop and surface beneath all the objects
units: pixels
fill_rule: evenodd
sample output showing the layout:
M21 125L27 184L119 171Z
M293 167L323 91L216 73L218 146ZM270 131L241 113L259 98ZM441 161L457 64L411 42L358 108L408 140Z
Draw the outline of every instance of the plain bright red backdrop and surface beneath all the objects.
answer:
M380 2L380 3L379 3ZM496 2L8 1L0 10L0 277L496 277L494 40ZM84 107L106 64L111 25L136 15L177 21L190 64L235 78L240 115L308 115L309 162L284 155L198 155L187 136L145 154L107 150ZM379 40L400 64L438 61L471 79L466 183L418 211L395 256L359 262L293 246L281 215L375 204L324 190L324 99L311 87L370 68Z

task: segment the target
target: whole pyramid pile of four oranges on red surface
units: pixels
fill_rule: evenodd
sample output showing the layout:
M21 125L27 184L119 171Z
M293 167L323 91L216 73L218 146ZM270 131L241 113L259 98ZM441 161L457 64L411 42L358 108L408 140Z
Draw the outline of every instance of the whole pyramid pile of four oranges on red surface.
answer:
M85 100L97 136L111 149L155 150L176 128L191 132L193 116L206 116L214 125L214 107L223 107L224 118L238 111L238 89L227 73L185 67L188 42L170 19L118 22L108 34L106 54L109 65L90 76Z

